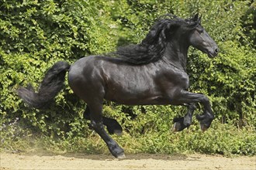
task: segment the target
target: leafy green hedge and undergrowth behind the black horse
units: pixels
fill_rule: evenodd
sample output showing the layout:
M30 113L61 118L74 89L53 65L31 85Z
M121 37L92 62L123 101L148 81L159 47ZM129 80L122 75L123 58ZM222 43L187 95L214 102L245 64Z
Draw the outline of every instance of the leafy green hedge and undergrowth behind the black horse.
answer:
M44 72L59 60L72 63L83 56L109 53L117 46L140 42L161 15L174 13L188 18L196 12L202 14L202 26L221 50L216 59L209 59L191 48L188 59L190 90L205 93L212 101L216 114L213 130L201 134L196 128L194 134L170 134L172 119L185 114L183 107L126 107L106 102L104 114L115 117L123 125L125 134L117 141L125 145L126 150L254 155L255 2L232 0L0 2L2 148L12 148L35 134L36 138L44 138L50 144L67 146L65 149L81 142L84 148L85 143L95 146L92 141L98 137L92 135L88 122L82 118L85 104L74 96L67 84L56 97L56 104L48 110L26 107L17 97L16 88L27 83L38 87ZM133 119L130 111L137 117ZM199 113L197 110L196 114ZM248 131L247 137L244 137L244 131ZM226 135L231 136L227 138ZM217 137L220 140L214 144ZM171 138L176 138L173 145L169 143ZM212 143L206 145L205 138ZM134 142L138 148L129 145ZM97 146L101 145L102 141L99 141ZM223 151L218 151L218 146ZM88 152L95 151L94 147L88 148Z

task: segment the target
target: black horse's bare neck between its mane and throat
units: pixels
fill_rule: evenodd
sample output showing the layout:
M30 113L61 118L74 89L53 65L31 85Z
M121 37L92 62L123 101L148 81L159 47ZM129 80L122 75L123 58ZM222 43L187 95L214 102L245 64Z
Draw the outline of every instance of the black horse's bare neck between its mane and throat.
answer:
M169 42L165 48L164 57L168 62L181 70L186 70L187 56L189 46L184 43Z

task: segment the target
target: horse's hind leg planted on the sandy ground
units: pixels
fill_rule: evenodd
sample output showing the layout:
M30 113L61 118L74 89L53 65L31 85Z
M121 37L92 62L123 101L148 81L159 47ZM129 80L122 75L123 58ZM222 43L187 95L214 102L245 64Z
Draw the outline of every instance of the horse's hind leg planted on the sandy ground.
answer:
M102 103L88 104L91 111L92 128L99 134L99 136L106 142L111 154L116 158L125 158L123 148L114 141L109 134L106 133L102 121Z

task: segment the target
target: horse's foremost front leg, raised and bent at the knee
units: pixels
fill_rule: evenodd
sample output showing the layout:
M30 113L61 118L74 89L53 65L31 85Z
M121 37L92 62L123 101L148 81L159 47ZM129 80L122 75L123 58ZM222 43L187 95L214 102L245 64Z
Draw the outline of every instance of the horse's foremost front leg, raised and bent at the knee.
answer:
M214 115L212 107L209 103L209 98L202 93L191 93L186 90L180 90L175 92L175 104L191 104L191 103L201 103L204 107L203 114L198 115L196 118L200 122L200 127L202 131L206 131L211 125Z

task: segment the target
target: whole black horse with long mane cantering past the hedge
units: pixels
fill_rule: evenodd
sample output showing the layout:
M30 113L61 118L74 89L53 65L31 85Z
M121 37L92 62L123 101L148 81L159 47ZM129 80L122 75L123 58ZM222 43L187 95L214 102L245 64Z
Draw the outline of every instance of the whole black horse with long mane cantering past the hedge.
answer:
M198 14L191 19L165 15L140 44L119 48L109 56L87 56L71 66L57 62L47 71L37 93L29 86L19 87L18 94L31 107L45 107L63 88L68 72L69 86L88 106L85 118L91 120L92 128L106 142L112 155L125 158L123 148L103 127L105 124L109 133L122 131L116 120L102 117L104 99L127 105L186 105L188 113L174 120L174 131L189 127L195 104L199 102L204 106L203 113L197 116L202 131L212 123L214 116L209 99L202 93L188 91L189 46L207 53L210 58L219 51L216 42L202 28Z

